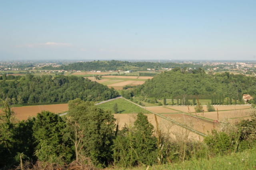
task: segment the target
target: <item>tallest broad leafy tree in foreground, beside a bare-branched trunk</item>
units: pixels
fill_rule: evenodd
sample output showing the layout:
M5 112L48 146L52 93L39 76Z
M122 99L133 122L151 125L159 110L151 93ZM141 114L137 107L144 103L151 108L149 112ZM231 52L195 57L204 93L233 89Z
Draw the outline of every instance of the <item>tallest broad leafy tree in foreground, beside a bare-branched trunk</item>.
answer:
M96 164L108 164L112 159L114 116L110 111L98 108L93 102L81 99L69 101L68 110L70 121L67 124L66 137L77 145L77 159L86 156Z

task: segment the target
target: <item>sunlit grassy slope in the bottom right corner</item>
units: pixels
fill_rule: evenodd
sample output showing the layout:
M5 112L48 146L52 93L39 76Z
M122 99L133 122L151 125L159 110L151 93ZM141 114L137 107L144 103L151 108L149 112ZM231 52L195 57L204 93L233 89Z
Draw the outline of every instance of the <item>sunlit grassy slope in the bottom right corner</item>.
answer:
M150 166L147 168L115 168L114 170L253 170L256 169L256 149L240 153L232 153L215 158L181 162L178 164L166 164Z

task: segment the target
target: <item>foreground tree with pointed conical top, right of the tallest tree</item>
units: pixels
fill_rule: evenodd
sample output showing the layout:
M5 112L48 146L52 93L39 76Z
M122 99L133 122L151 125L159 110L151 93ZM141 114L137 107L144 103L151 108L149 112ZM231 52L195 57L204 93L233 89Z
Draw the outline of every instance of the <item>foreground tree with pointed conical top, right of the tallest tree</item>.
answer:
M146 115L138 113L134 127L124 127L114 140L114 162L119 166L136 166L156 162L156 137Z

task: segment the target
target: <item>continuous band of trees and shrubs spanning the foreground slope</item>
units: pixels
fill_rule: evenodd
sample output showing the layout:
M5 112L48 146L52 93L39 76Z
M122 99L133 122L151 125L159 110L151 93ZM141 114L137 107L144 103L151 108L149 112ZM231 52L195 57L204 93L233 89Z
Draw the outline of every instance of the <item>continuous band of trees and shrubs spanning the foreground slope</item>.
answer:
M0 100L0 106L0 169L94 170L184 163L243 152L256 142L256 109L250 110L251 121L222 122L202 142L189 138L188 130L170 130L169 121L160 125L167 130L155 129L142 113L118 129L110 111L81 99L68 102L64 117L42 111L26 121L15 119L8 101ZM183 126L192 124L188 120Z

